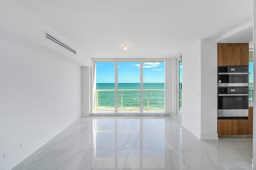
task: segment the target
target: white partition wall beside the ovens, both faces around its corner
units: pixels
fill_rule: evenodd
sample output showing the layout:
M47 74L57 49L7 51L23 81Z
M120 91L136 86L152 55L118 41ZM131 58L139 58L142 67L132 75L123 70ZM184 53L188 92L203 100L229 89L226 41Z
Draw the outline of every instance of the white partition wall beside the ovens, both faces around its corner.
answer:
M199 40L182 52L182 126L200 139L217 134L217 44Z

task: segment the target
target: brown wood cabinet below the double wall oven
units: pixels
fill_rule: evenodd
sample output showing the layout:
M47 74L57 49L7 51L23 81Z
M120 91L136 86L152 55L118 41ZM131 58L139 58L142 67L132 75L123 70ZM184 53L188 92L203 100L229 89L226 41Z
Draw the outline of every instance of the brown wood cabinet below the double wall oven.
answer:
M218 135L238 135L252 134L253 128L253 108L249 107L248 119L228 119L218 120Z

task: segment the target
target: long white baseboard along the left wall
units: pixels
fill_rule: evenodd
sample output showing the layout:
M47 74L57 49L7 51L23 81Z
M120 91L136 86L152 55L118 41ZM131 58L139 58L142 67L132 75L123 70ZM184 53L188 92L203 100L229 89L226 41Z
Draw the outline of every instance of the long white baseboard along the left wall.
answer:
M38 149L40 149L42 146L44 146L47 142L49 142L50 140L52 140L55 136L57 136L58 134L60 134L60 132L62 132L64 129L66 129L67 127L69 127L72 123L74 123L75 121L77 121L78 119L80 119L82 117L82 115L79 115L78 117L75 117L74 119L70 120L68 123L66 123L65 125L63 125L62 127L60 127L58 130L56 130L55 132L53 132L52 134L50 134L49 136L47 136L46 138L44 138L42 141L38 142L37 144L35 144L35 146L33 146L32 148L30 148L28 151L24 152L22 155L20 155L18 158L14 159L12 162L10 162L9 164L6 164L4 167L0 167L1 170L11 170L12 168L14 168L15 166L17 166L18 164L20 164L20 162L22 162L23 160L25 160L26 158L28 158L28 156L32 155L34 152L36 152Z

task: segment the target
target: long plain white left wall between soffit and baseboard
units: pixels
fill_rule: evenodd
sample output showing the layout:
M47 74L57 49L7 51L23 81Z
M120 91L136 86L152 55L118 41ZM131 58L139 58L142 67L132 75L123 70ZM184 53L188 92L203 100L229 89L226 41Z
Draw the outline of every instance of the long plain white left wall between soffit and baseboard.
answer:
M82 82L78 65L4 39L0 46L0 169L8 169L81 117Z

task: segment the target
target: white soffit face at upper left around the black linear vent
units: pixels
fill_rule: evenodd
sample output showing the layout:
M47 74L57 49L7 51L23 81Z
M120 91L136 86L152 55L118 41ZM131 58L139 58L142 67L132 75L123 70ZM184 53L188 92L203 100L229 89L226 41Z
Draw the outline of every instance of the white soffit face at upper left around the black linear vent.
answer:
M45 31L70 46L77 53L74 54L45 38ZM66 61L81 66L91 66L91 58L85 55L84 51L12 0L0 0L0 37L21 43L49 55L54 53L54 55Z

